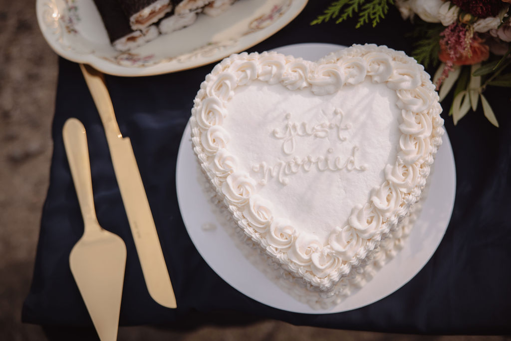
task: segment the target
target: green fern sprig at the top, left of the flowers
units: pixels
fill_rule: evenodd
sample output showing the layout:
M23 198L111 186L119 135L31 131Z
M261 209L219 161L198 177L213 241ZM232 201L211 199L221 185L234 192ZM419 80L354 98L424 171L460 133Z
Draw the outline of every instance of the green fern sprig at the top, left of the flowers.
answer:
M356 28L371 21L375 27L381 19L385 17L388 12L389 4L393 4L393 0L338 0L330 4L330 6L323 11L323 14L318 15L316 19L311 22L311 25L321 24L327 22L332 18L337 18L336 24L352 18L355 13L359 14Z

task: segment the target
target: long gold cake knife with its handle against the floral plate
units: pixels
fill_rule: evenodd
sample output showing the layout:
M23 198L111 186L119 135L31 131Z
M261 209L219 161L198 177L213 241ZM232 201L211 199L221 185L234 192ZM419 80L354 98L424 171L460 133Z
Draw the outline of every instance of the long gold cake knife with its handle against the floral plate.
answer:
M80 69L105 128L115 177L149 294L162 306L176 308L174 290L130 139L123 138L119 130L103 75L88 65L80 64Z

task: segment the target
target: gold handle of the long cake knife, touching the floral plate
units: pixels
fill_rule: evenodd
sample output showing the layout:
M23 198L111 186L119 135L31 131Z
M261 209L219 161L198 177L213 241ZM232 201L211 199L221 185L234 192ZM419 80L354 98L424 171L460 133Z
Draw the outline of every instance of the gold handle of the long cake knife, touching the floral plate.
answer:
M105 84L103 74L93 67L85 64L80 64L83 77L89 88L92 99L98 109L101 122L105 127L107 139L121 137L121 130L115 119L115 112L113 111L112 100L108 94L108 89Z

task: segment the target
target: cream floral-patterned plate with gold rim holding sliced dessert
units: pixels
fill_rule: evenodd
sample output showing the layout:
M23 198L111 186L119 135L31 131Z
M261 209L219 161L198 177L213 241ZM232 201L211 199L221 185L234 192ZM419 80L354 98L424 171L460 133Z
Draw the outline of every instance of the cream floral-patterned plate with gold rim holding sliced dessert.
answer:
M113 49L92 0L37 0L44 38L60 56L117 76L149 76L192 69L248 49L278 32L307 0L239 0L217 17L160 35L130 52Z

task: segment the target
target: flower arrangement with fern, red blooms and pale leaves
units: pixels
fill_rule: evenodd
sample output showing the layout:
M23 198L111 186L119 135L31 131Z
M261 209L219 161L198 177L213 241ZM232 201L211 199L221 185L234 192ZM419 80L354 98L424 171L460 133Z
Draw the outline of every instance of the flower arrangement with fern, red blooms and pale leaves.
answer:
M360 12L357 27L384 17L391 0L339 0L311 24ZM492 86L511 87L511 0L395 0L403 19L415 25L412 56L437 66L433 82L440 101L453 91L449 110L454 124L481 103L484 116L498 127L483 95ZM366 14L369 13L369 14Z

